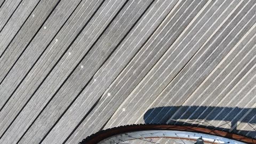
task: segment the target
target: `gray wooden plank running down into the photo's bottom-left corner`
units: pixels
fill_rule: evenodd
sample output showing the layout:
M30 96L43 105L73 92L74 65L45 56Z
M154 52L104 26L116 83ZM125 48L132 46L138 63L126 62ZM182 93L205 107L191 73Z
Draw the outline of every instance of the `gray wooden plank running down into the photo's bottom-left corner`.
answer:
M61 2L65 3L66 1ZM93 43L97 41L98 37L124 3L125 1L107 1L102 5L93 19L83 29L82 33L79 34L73 45L65 52L65 57L62 57L58 61L58 65L56 65L51 71L51 74L47 76L45 82L41 85L41 89L38 89L33 94L31 100L6 131L1 141L17 142L22 137L22 134L30 127L30 124L33 123L37 115L58 90L61 83L65 81L68 75L73 71L74 67L83 58ZM106 15L108 15L108 17L106 17ZM85 45L86 48L84 47ZM13 133L13 131L15 131L15 134L9 134ZM17 131L20 132L17 133Z

